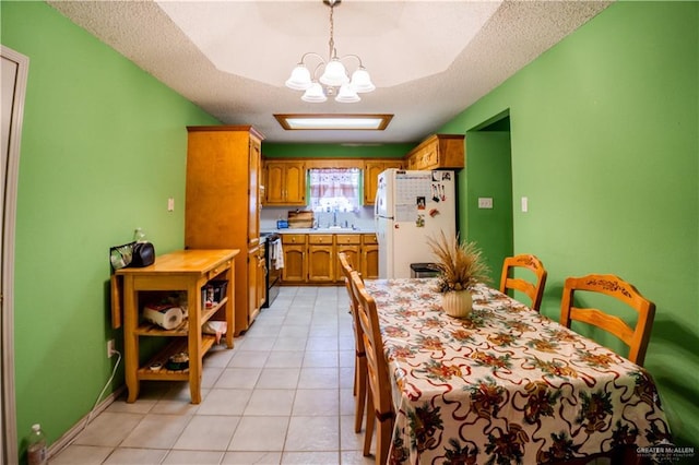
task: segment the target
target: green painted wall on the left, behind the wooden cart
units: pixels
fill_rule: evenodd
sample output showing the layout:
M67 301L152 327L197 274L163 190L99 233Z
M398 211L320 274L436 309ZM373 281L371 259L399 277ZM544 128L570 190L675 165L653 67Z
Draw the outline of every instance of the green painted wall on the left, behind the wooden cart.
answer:
M106 358L106 341L121 347L121 330L110 329L109 246L143 227L157 253L182 247L185 127L217 121L47 4L0 8L2 44L29 58L15 250L17 434L40 422L52 442L107 382L116 359ZM112 388L122 384L119 369Z

